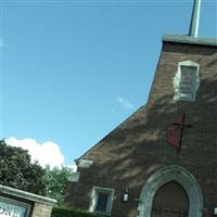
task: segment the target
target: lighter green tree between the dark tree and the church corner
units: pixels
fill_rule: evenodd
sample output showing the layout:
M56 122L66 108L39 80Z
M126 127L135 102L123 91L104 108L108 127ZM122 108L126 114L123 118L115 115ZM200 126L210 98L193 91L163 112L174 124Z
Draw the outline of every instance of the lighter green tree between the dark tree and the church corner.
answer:
M47 166L44 170L43 183L46 186L46 195L55 199L59 205L63 205L67 178L73 173L73 169L66 166L51 169Z

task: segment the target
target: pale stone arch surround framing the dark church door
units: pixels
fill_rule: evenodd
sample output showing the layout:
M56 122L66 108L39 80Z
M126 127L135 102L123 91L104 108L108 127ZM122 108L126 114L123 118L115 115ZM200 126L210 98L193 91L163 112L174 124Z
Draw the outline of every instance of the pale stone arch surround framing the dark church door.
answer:
M182 203L188 206L187 217L202 217L203 195L201 188L193 175L178 165L164 167L146 180L140 193L138 217L153 217L152 208L155 205L155 195L157 196L158 192L165 191L164 187L179 189L181 196L183 196ZM162 215L161 217L165 216L168 217L168 215ZM173 217L178 216L174 215Z

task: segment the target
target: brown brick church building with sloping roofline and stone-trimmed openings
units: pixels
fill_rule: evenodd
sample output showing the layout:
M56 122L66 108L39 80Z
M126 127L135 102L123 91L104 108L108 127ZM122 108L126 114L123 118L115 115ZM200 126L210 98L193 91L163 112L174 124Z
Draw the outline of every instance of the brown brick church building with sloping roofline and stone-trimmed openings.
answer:
M146 104L76 161L66 206L217 216L217 40L197 37L199 2L189 36L163 36Z

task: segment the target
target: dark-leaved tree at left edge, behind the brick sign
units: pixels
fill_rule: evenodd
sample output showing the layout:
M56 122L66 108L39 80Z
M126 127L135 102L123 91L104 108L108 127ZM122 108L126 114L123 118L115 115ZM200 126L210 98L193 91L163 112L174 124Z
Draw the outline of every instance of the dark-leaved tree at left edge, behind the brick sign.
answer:
M27 150L7 145L0 140L0 184L44 195L43 174L37 162L31 163Z

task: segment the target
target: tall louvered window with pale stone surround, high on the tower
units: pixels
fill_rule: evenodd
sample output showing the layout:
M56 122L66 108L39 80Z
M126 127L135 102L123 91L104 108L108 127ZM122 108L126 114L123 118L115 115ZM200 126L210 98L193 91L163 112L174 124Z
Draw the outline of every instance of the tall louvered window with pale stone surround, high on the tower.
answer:
M200 86L197 63L191 61L180 62L174 77L174 100L195 101Z

